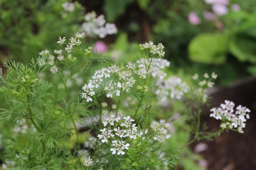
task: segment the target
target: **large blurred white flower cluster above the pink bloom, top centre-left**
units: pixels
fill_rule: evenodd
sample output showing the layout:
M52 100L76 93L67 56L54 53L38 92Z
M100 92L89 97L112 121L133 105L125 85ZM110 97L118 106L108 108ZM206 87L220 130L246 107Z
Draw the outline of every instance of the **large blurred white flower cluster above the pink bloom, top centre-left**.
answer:
M87 13L84 16L84 18L86 22L82 24L82 27L84 28L86 36L98 35L100 38L105 38L106 35L117 33L116 25L106 23L106 20L103 14L97 17L95 11L92 11Z

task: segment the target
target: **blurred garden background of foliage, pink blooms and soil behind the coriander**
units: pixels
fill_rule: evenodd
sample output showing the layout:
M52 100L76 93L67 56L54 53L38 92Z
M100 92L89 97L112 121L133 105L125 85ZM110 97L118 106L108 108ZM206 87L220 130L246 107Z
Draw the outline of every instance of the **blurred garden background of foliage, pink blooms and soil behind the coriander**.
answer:
M101 52L117 59L127 57L132 44L153 41L164 45L171 74L185 80L194 73L219 75L217 88L209 92L211 107L232 100L250 108L252 118L244 134L229 132L212 142L203 141L207 149L200 152L205 160L200 166L256 169L255 9L255 0L0 0L0 62L28 63L42 50L57 49L59 36L83 32L86 13L104 14L116 25L117 34L85 38L84 46L100 41ZM208 110L204 109L203 120L218 128ZM177 168L197 169L200 162L191 159L182 159Z

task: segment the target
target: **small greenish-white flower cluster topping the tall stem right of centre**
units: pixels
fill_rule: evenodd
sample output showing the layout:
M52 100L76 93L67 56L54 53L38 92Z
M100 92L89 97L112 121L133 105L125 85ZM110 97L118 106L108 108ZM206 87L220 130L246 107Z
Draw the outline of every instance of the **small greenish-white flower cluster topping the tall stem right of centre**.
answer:
M164 45L162 43L158 43L158 45L154 45L152 41L149 41L149 43L140 44L140 49L149 49L149 52L153 55L158 55L159 57L164 57Z

